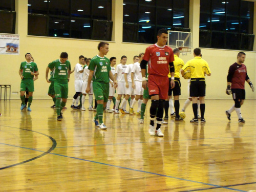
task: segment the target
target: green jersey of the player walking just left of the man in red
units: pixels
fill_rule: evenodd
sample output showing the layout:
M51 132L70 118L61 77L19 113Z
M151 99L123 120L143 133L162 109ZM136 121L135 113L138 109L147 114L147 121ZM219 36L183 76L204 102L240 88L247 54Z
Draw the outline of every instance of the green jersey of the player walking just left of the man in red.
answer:
M106 57L93 57L88 67L89 70L94 71L93 81L110 82L110 60Z

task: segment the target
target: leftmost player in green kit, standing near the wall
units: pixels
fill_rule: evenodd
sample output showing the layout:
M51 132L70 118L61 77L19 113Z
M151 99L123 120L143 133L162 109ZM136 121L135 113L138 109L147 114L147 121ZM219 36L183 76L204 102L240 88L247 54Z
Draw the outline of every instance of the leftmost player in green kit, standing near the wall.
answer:
M31 54L27 53L25 55L25 58L27 61L24 61L20 64L19 68L19 76L22 78L22 82L20 83L20 99L22 100L22 106L20 107L20 110L23 110L26 106L25 104L25 92L28 90L29 92L29 105L28 105L28 111L31 111L30 105L33 100L33 92L34 92L34 75L39 75L37 66L35 62L31 61Z

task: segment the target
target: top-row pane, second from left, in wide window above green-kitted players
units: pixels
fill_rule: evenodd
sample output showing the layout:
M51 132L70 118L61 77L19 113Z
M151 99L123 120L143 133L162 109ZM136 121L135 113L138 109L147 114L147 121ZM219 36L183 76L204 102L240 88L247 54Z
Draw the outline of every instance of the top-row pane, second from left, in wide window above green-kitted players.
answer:
M69 0L54 0L49 2L50 15L70 15Z

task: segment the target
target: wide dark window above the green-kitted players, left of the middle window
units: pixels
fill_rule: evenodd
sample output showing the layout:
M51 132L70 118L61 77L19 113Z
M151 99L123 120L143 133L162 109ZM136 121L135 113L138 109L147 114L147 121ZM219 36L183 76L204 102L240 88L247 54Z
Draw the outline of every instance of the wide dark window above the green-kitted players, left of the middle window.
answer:
M28 0L28 35L111 40L111 0ZM99 36L99 35L98 35Z

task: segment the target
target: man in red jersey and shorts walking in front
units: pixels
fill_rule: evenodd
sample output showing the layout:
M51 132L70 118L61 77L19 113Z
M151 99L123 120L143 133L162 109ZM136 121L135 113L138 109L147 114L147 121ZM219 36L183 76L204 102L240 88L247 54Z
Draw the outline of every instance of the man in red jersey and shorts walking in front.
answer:
M140 63L142 73L142 87L146 89L146 64L148 62L148 91L151 96L150 129L151 136L163 137L161 123L163 119L164 101L168 98L169 79L168 73L172 75L170 85L175 87L174 82L174 54L172 48L166 46L168 32L160 29L157 33L157 43L146 48L143 60ZM156 117L157 126L154 127Z

